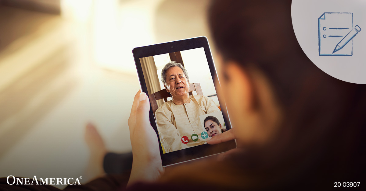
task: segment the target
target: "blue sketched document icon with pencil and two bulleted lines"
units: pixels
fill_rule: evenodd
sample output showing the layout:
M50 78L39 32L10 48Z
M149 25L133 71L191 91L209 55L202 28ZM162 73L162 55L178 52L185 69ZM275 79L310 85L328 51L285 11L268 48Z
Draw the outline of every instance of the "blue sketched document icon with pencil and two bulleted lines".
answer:
M352 56L352 39L361 31L353 27L352 13L324 13L318 19L319 56Z

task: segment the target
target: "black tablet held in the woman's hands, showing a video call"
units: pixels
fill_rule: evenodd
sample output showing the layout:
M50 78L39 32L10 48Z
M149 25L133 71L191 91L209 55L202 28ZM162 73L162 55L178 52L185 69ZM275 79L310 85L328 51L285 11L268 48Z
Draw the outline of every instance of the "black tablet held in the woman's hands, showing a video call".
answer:
M206 37L132 50L141 89L149 96L150 123L163 166L226 152L235 140L209 145L231 129L215 88L217 74ZM218 85L218 84L217 84Z

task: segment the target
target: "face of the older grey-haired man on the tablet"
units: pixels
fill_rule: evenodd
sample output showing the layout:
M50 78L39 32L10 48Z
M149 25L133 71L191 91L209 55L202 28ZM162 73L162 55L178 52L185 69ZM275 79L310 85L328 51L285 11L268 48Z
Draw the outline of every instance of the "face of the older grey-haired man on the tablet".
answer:
M173 66L165 73L167 75L167 91L172 95L173 99L188 95L189 82L183 70L178 66Z

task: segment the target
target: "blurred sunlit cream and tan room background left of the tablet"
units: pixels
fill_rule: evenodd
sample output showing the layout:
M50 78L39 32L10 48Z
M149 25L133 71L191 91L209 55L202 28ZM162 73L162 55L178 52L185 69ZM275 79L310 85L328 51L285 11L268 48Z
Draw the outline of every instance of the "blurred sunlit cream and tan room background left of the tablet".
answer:
M132 49L198 36L211 42L207 5L0 0L0 177L83 176L87 122L109 150L130 151L127 119L139 89Z

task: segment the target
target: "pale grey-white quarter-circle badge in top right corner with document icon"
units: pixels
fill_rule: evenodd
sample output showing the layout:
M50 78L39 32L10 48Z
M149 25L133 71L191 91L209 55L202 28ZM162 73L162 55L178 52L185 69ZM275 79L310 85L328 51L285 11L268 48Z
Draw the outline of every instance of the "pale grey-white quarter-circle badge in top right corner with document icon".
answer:
M366 84L365 0L292 0L291 16L301 48L318 68Z

